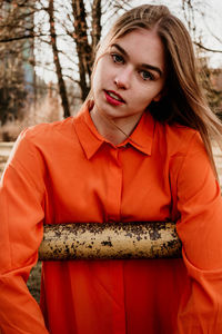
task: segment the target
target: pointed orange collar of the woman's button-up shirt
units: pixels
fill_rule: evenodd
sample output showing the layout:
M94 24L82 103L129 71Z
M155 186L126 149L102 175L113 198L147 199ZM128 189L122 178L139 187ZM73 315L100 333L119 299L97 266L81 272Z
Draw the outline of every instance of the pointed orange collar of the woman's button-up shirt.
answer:
M149 111L145 111L142 115L131 136L118 146L112 145L98 132L90 117L90 110L87 106L82 108L82 110L75 118L74 128L88 159L91 159L91 157L105 143L113 147L131 145L141 153L151 155L154 134L154 120Z

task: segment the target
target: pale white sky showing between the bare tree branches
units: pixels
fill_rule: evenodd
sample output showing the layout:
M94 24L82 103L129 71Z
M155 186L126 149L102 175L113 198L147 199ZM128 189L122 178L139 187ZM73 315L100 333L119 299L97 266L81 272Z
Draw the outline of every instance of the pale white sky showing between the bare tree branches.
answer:
M59 1L59 0L58 0ZM65 0L63 0L65 2ZM85 0L85 3L89 0ZM183 22L184 22L184 17L182 14L180 4L182 0L150 0L149 3L155 3L155 4L167 4L169 9L171 10L172 13L178 16ZM201 3L199 6L200 10L196 12L195 17L195 22L198 26L199 31L202 31L202 43L210 48L210 49L219 49L222 50L222 0L192 0L192 3ZM131 0L130 2L133 7L134 6L140 6L143 3L148 3L148 0ZM205 18L203 19L200 14L201 10L204 10L205 12ZM111 20L110 20L111 22ZM108 24L107 24L108 26ZM219 42L215 38L213 38L212 33L215 35L219 39L221 39L221 42ZM63 41L60 45L60 48L69 48L69 56L74 57L74 49L73 46L70 45L68 41ZM46 51L44 47L42 50L38 51L36 55L39 59L42 61L49 61L50 60L50 55L51 50L48 49ZM208 52L204 53L209 57L210 61L209 65L213 68L222 68L222 53L213 53L213 52ZM62 56L62 61L69 63L69 60L65 59ZM52 58L51 58L51 63L52 63ZM78 71L78 68L75 67L74 71ZM52 70L48 71L44 67L37 67L37 73L42 77L47 82L49 81L57 81L57 77L53 73ZM73 76L70 72L71 76Z

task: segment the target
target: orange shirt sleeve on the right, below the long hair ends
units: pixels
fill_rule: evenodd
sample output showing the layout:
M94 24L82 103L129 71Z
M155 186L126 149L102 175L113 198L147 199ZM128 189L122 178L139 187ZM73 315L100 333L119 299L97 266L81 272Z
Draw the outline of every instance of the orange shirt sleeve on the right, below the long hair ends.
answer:
M178 173L176 229L188 284L176 334L222 333L222 198L204 145L195 134Z

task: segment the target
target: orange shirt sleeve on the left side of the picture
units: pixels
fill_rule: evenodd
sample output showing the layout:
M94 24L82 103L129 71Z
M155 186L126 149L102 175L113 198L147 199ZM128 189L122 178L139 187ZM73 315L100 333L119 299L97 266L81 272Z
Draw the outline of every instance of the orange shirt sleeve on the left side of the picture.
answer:
M29 132L29 130L28 130ZM0 184L0 333L47 334L42 313L27 287L43 236L43 161L19 137Z

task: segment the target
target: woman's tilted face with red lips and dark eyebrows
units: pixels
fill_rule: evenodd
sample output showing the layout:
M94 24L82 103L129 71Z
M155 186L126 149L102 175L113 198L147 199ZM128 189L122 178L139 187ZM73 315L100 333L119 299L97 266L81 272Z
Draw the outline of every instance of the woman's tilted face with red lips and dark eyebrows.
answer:
M137 29L114 40L98 61L92 78L93 112L117 125L138 121L165 81L164 48L152 30Z

